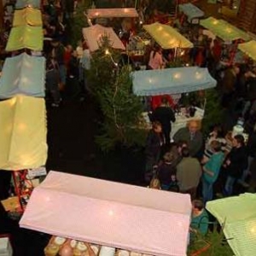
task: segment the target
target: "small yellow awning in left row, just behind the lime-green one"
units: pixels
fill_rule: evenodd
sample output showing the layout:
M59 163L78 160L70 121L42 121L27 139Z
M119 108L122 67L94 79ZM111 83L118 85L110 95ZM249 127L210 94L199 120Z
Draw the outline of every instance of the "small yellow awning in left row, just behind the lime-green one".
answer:
M42 26L42 15L39 9L27 7L15 10L13 26Z

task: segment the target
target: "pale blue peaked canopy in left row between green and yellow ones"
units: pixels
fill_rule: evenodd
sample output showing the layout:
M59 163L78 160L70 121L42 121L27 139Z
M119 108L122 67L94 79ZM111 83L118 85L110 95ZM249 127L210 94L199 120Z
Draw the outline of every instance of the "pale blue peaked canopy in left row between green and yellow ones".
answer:
M45 59L23 53L7 58L0 79L0 98L17 94L44 97Z

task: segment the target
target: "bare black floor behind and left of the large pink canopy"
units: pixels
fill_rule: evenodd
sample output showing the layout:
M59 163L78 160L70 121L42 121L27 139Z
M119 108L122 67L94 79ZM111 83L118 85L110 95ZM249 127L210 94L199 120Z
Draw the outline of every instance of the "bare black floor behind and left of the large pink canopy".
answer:
M141 183L142 153L123 149L102 154L96 147L95 136L100 126L97 118L100 114L90 96L84 102L68 97L60 108L48 107L47 110L48 170L123 183ZM15 256L44 255L49 236L20 229L18 223L9 220L0 208L0 234L4 233L12 237Z

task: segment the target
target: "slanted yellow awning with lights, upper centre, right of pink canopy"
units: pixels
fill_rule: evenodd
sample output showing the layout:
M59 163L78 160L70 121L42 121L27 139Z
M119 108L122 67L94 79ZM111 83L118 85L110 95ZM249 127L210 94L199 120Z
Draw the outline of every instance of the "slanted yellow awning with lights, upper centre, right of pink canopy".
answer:
M163 49L193 47L193 44L172 26L156 22L151 25L144 25L143 28Z

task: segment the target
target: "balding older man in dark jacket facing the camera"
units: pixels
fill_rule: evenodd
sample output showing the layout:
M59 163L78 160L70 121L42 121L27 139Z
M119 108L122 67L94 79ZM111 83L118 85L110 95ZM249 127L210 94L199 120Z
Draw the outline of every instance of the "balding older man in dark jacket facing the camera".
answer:
M203 146L202 133L199 130L198 122L191 120L187 127L179 129L173 136L175 143L186 141L189 147L189 154L192 157L198 157Z

